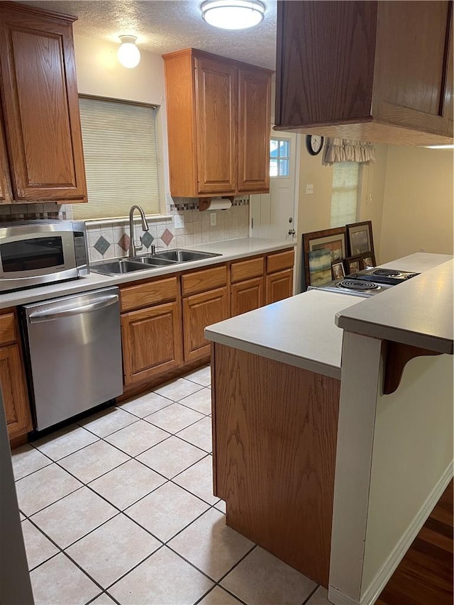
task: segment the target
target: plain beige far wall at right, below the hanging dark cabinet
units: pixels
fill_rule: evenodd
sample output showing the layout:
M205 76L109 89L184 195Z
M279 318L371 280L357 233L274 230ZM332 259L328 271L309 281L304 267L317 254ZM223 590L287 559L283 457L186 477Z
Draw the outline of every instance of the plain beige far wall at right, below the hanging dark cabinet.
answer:
M453 254L453 150L389 145L380 260L421 248Z

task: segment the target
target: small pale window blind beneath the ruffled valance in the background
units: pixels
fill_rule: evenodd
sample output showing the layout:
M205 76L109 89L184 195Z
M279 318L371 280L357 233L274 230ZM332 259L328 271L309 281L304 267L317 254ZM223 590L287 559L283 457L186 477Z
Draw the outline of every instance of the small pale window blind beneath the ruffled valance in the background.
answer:
M358 162L336 162L333 165L331 228L357 221L359 182Z

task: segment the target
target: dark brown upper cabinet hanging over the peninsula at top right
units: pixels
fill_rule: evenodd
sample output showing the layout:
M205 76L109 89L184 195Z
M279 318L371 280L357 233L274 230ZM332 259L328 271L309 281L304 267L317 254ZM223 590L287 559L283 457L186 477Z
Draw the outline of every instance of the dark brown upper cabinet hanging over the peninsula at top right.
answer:
M452 143L452 1L278 1L276 129Z

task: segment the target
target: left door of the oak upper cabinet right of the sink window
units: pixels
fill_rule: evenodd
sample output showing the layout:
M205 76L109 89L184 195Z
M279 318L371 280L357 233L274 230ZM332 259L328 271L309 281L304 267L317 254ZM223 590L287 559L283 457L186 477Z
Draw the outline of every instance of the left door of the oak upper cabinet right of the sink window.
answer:
M199 194L234 193L238 70L228 63L195 59Z

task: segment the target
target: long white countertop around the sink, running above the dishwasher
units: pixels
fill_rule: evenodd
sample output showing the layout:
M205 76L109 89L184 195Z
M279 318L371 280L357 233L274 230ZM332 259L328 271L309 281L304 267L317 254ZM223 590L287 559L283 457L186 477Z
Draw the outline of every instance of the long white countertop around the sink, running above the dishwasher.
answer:
M150 277L159 277L162 275L189 271L191 269L208 267L209 265L218 265L221 262L235 260L237 258L253 256L255 254L265 254L276 250L284 250L284 248L293 248L296 242L286 240L270 240L265 238L238 238L234 240L224 240L221 242L211 242L205 244L197 244L193 246L185 246L184 250L199 250L200 252L216 252L221 256L205 258L191 262L182 262L176 265L160 267L159 269L149 269L144 271L136 271L123 275L101 275L98 273L90 273L86 277L80 277L69 282L60 282L41 286L37 288L28 288L26 290L18 290L1 294L0 309L5 309L9 306L17 306L31 302L43 301L52 299L57 296L66 296L67 294L79 294L80 292L88 292L97 288L107 286L115 286L126 282L137 282L141 279L149 279ZM106 262L113 259L106 259Z

